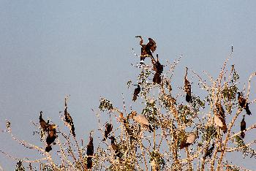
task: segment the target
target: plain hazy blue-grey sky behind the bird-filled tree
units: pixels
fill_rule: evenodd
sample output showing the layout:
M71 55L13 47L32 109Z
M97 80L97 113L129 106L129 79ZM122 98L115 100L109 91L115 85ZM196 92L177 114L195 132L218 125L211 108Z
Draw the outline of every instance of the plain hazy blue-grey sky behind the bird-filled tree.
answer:
M0 1L0 129L5 119L20 139L38 144L32 136L39 111L59 119L64 96L78 137L88 140L97 120L91 109L99 97L122 106L131 102L128 80L135 80L140 53L137 35L157 42L162 61L184 56L176 69L182 85L184 67L217 76L225 58L234 53L240 88L255 72L255 1ZM163 62L164 63L164 62ZM256 82L252 80L255 99ZM252 113L255 107L252 107ZM255 123L253 118L248 121ZM255 137L255 135L249 135ZM13 156L29 152L0 133L0 149ZM31 152L29 156L34 156ZM239 161L240 158L234 158ZM0 154L4 170L17 161ZM253 168L253 160L246 160Z

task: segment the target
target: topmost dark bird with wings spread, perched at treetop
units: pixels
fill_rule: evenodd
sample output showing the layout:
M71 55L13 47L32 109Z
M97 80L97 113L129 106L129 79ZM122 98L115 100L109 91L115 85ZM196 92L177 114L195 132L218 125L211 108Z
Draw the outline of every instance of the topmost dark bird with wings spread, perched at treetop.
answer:
M140 54L140 63L144 63L146 57L153 56L152 53L157 49L157 43L154 39L148 38L148 43L143 45L143 39L140 35L137 37L140 38L141 54Z

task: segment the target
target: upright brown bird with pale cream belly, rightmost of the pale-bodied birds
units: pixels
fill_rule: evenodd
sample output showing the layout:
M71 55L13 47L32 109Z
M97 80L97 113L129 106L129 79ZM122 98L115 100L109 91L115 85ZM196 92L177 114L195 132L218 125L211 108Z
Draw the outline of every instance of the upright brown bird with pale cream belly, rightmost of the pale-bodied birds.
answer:
M222 129L224 133L227 132L227 125L225 121L225 111L222 107L222 104L217 102L215 104L216 109L214 110L214 123Z

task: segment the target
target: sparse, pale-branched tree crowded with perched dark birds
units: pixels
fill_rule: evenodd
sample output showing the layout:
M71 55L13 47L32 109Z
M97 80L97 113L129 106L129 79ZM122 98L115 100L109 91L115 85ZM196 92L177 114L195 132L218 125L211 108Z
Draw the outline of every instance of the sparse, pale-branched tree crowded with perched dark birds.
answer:
M91 132L87 135L86 144L78 142L75 137L72 113L67 112L68 96L64 100L64 115L60 115L70 132L64 132L53 121L44 121L44 126L41 122L39 126L39 121L33 123L40 131L45 144L43 148L18 140L12 134L10 121L7 121L7 132L13 140L42 155L42 159L37 160L19 159L17 168L22 170L22 164L28 163L31 170L32 165L39 167L39 170L242 169L244 166L230 164L225 156L237 152L244 157L256 156L251 148L256 140L244 139L244 134L246 137L246 132L255 129L256 123L244 129L243 121L241 131L235 131L235 122L241 118L239 116L248 114L249 107L256 102L256 99L249 100L250 81L256 72L249 76L248 85L239 90L239 75L235 66L227 65L232 53L233 47L217 78L206 72L208 81L189 68L184 69L185 75L174 75L182 56L173 64L167 61L163 66L158 56L156 60L152 53L143 54L145 63L133 65L138 69L138 79L127 82L132 94L129 98L140 104L142 109L134 110L131 106L128 110L125 102L124 107L118 109L113 102L102 97L99 110L93 110L100 136L95 137ZM184 77L184 85L173 88L174 76ZM137 87L133 89L133 85ZM106 115L109 119L102 123L102 117ZM246 119L253 115L253 112L246 115ZM54 137L54 140L49 142L49 137ZM45 148L50 152L46 152ZM59 161L56 156L59 156Z

